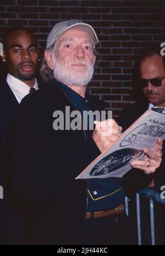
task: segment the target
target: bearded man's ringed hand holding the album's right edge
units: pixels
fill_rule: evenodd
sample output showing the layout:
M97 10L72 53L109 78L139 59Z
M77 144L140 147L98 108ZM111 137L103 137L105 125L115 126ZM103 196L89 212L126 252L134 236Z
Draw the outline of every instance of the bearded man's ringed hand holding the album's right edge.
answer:
M162 145L163 141L159 138L153 151L150 149L144 150L147 158L142 161L134 160L131 162L131 166L145 171L146 174L155 172L162 162Z

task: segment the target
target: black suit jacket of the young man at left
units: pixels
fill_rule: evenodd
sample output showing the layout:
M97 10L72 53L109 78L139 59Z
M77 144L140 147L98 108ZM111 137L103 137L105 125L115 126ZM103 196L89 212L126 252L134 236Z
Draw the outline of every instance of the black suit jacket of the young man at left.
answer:
M0 200L0 244L22 244L24 224L20 215L8 201L6 175L6 150L9 122L19 104L6 80L0 83L0 186L3 199Z

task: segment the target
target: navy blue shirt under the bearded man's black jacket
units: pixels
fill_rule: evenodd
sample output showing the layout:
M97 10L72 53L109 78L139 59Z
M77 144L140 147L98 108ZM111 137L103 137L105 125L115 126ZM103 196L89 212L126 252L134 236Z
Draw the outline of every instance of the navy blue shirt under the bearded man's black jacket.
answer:
M81 112L100 110L92 99L91 95L86 91L85 97L80 96L69 86L56 81L56 85L67 94L70 101ZM90 131L86 131L91 136ZM99 211L115 208L123 203L123 179L122 178L106 178L106 179L88 179L87 181L87 211Z

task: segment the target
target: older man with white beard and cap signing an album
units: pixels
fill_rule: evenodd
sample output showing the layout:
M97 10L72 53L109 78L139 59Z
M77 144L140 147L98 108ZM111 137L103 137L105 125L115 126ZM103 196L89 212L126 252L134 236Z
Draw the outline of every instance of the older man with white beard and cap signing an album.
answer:
M48 35L41 67L47 84L27 96L15 116L9 171L26 221L27 243L129 243L124 240L129 227L122 178L75 180L118 139L121 127L113 119L98 122L94 131L52 127L54 111L61 111L68 122L66 106L81 114L102 109L86 90L94 72L96 43L96 32L89 24L57 23ZM154 152L145 150L148 160L134 161L132 166L154 172L161 162L161 148L158 140Z

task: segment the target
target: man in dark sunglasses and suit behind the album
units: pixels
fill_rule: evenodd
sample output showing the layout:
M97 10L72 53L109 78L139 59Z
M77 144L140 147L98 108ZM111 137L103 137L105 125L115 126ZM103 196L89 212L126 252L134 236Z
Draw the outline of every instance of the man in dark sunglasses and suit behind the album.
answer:
M141 101L125 108L119 116L119 124L123 130L127 129L136 119L138 119L146 110L152 109L164 113L165 106L165 57L161 56L160 45L152 44L143 50L138 63L139 79L136 86L141 90ZM125 193L129 195L131 205L134 205L135 192L144 189L147 186L152 187L158 192L162 192L161 187L165 185L165 146L163 142L162 163L151 178L144 177L138 170L130 170L123 177ZM144 223L149 219L149 200L141 198L141 218ZM133 208L134 209L134 208ZM155 203L155 233L156 244L164 244L164 205ZM143 227L143 226L142 226ZM144 243L150 244L150 234L148 228L144 227Z

